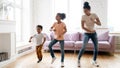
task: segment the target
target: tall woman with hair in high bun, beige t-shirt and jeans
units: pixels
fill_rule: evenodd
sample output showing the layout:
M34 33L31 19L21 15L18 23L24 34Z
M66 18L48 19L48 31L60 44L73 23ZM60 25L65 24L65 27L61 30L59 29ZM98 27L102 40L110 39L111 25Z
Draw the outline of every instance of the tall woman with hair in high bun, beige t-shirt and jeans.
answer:
M91 39L94 44L94 57L92 64L98 67L99 65L96 62L97 54L98 54L98 39L97 39L97 33L94 29L94 25L95 24L101 25L101 22L95 13L90 12L91 7L88 2L84 3L83 10L85 15L82 16L81 25L82 25L82 29L85 30L85 33L84 33L83 46L79 51L79 55L78 55L78 66L80 67L80 58L85 51L85 47L89 39Z

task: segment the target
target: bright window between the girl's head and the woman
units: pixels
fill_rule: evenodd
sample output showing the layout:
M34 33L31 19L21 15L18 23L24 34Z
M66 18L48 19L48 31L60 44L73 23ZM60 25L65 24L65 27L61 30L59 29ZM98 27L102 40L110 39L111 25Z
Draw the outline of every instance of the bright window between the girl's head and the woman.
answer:
M69 29L72 27L72 31L81 31L81 11L81 0L69 0Z

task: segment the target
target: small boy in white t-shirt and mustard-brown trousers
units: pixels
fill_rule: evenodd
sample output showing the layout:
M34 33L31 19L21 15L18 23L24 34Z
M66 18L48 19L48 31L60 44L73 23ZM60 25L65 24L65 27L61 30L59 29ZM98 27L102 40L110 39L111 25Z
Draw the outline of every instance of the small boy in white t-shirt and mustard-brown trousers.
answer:
M37 34L33 35L30 37L29 42L31 42L32 38L36 39L36 53L37 53L37 57L38 57L38 61L37 63L39 63L42 60L42 46L45 43L46 38L44 37L44 35L41 33L42 32L42 26L41 25L37 25L36 29L37 29Z

